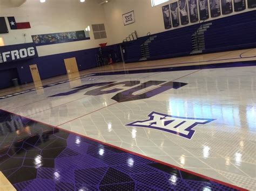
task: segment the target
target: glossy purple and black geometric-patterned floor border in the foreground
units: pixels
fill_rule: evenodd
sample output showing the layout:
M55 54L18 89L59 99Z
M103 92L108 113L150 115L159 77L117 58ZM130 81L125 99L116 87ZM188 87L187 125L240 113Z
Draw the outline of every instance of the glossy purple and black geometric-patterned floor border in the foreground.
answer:
M17 190L237 190L0 110L0 171Z

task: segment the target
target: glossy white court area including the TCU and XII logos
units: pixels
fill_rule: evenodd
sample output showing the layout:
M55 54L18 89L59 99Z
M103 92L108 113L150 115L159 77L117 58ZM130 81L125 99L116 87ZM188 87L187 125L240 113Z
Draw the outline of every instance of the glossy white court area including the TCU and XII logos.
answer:
M85 76L0 108L256 190L256 66L165 71Z

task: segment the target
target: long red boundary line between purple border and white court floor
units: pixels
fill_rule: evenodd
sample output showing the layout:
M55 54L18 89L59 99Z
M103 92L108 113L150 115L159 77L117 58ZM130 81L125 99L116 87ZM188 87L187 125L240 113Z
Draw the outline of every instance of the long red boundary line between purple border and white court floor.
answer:
M139 157L142 157L142 158L145 158L145 159L148 159L148 160L152 160L154 162L158 162L160 164L163 164L163 165L166 165L166 166L169 166L169 167L172 167L172 168L176 168L176 169L179 169L180 171L183 171L183 172L187 172L187 173L190 173L190 174L193 174L193 175L196 175L196 176L199 176L201 178L204 178L204 179L207 179L207 180L210 180L210 181L213 181L213 182L217 182L221 185L225 185L225 186L228 186L228 187L231 187L231 188L234 188L234 189L238 189L238 190L241 190L241 191L247 191L247 189L244 189L244 188L240 188L238 186L235 186L235 185L231 185L230 183L227 183L227 182L223 182L223 181L220 181L220 180L217 180L217 179L213 179L213 178L210 178L208 176L205 176L205 175L202 175L202 174L198 174L196 172L192 172L192 171L189 171L187 169L184 169L184 168L181 168L181 167L178 167L178 166L175 166L175 165L171 165L171 164L168 164L166 162L163 162L163 161L160 161L160 160L157 160L157 159L153 159L151 157L147 157L146 155L143 155L143 154L139 154L139 153L136 153L136 152L133 152L133 151L129 151L129 150L126 150L125 148L121 148L121 147L118 147L118 146L115 146L115 145L112 145L112 144L109 144L109 143L105 143L105 142L102 142L100 140L97 140L97 139L93 139L93 138L90 138L90 137L87 137L87 136L84 136L84 135L80 135L79 133L75 133L75 132L72 132L72 131L69 131L69 130L65 130L65 129L62 129L62 128L59 128L58 126L53 126L53 125L50 125L50 124L46 124L46 123L43 123L43 122L39 122L39 121L36 121L34 119L30 119L28 117L24 117L24 116L21 116L21 115L18 115L18 114L15 114L13 112L10 112L10 111L6 111L4 109L1 109L5 112L9 112L10 114L14 114L14 115L17 115L17 116L20 116L20 117L23 117L23 118L27 118L33 122L37 122L37 123L41 123L43 125L46 125L48 127L51 127L51 128L56 128L56 129L59 129L59 130L62 130L62 131L65 131L65 132L68 132L70 134L73 134L73 135L77 135L77 136L80 136L80 137L84 137L86 139L89 139L89 140L92 140L94 142L97 142L97 143L100 143L102 145L106 145L106 146L110 146L110 147L113 147L113 148L117 148L118 150L121 150L121 151L124 151L124 152L127 152L127 153L130 153L130 154L134 154L134 155L137 155Z

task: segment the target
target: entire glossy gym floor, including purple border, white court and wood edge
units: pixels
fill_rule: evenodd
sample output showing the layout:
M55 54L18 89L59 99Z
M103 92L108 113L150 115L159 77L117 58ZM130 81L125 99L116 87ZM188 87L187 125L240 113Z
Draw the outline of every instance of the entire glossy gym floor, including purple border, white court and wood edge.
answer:
M0 171L18 190L256 190L255 48L115 63L0 99Z

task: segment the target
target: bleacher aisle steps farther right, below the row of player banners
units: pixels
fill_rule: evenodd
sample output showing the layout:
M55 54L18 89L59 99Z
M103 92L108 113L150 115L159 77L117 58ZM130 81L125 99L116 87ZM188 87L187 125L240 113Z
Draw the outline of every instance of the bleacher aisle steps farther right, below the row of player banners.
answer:
M196 32L191 36L192 52L190 54L203 53L205 49L205 36L204 32L210 28L212 23L201 24Z

